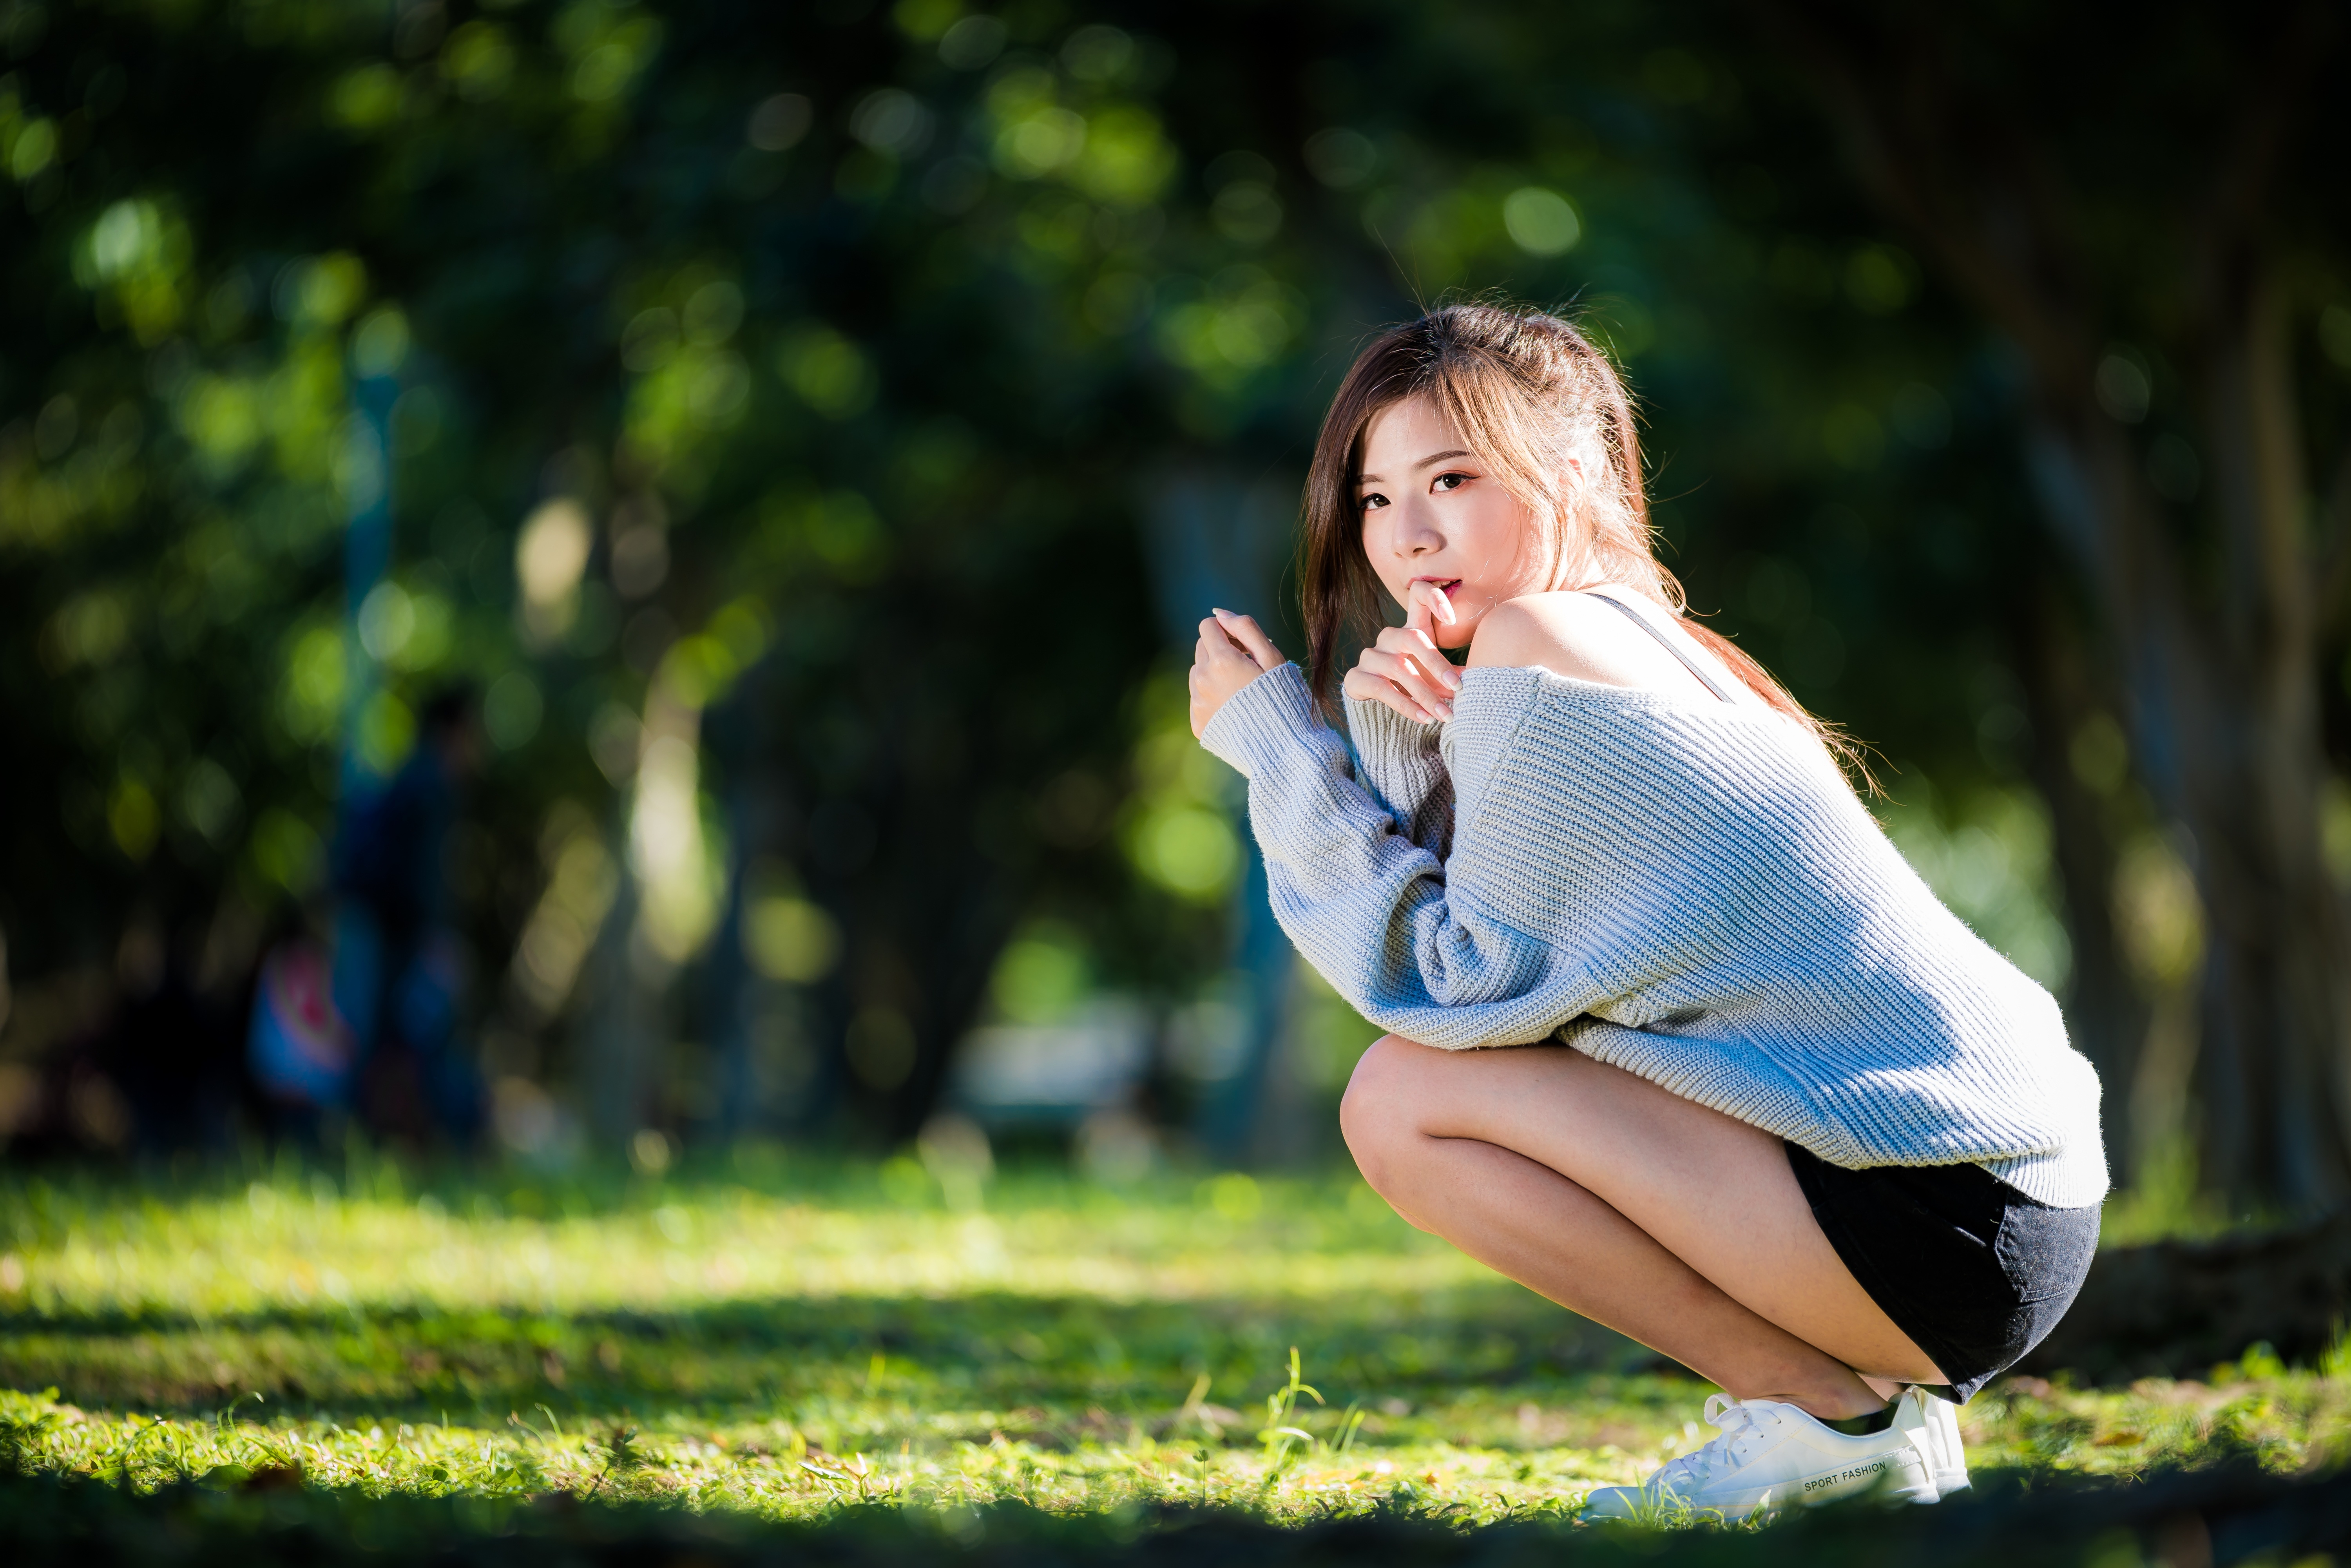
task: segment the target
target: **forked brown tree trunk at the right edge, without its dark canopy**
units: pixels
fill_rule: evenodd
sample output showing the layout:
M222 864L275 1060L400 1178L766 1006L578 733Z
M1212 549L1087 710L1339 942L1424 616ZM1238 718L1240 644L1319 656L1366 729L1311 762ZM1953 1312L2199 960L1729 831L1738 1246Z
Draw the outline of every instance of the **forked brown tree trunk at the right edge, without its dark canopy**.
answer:
M2045 428L2038 447L2045 505L2062 536L2090 543L2081 562L2130 672L2139 778L2193 846L2203 1175L2233 1204L2332 1204L2351 1192L2351 1145L2309 574L2262 571L2248 541L2259 512L2219 498L2222 571L2196 595L2121 425L2076 409L2074 430Z

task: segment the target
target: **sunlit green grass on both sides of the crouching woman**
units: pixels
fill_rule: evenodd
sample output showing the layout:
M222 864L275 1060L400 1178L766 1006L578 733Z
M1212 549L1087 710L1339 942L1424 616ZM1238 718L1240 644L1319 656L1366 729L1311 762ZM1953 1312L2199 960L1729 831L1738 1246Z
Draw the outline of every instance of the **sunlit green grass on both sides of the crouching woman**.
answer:
M1013 1171L959 1197L910 1161L759 1147L668 1180L364 1154L0 1175L0 1469L769 1521L1493 1523L1563 1521L1712 1436L1709 1385L1352 1175ZM2304 1472L2346 1448L2351 1366L2010 1380L1963 1425L1980 1476Z

